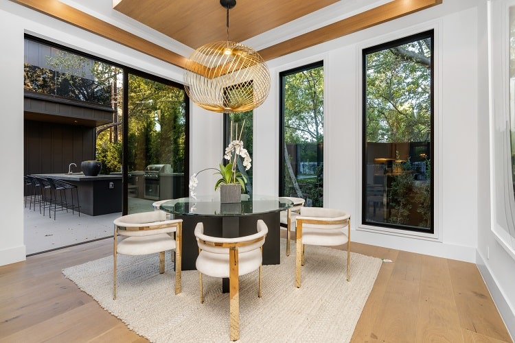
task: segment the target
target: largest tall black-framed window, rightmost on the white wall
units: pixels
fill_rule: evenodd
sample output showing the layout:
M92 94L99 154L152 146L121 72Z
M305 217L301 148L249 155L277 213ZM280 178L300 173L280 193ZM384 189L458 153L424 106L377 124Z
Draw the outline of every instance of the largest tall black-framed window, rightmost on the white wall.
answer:
M363 51L363 223L433 232L433 32Z

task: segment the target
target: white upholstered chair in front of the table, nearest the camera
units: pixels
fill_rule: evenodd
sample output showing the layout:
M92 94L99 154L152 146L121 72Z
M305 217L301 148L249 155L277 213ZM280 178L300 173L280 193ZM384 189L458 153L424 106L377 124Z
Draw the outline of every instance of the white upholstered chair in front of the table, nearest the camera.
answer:
M261 298L262 246L268 227L258 220L258 233L244 237L221 238L204 235L202 222L196 224L195 236L198 244L196 269L201 284L201 303L204 302L202 274L218 278L229 278L229 331L231 340L240 337L240 275L259 269L258 296Z

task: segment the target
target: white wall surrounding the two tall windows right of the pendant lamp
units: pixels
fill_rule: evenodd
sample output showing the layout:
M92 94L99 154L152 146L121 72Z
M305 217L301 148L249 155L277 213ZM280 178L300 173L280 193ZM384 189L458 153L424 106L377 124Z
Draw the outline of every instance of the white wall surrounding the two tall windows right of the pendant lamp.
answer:
M366 29L268 62L275 84L258 108L271 119L266 132L255 132L266 148L254 151L255 191L277 191L278 73L324 61L324 206L354 214L353 241L474 262L477 246L477 8L473 1L449 1L434 8ZM435 29L435 235L367 230L361 225L361 51ZM464 129L471 134L464 134ZM260 138L257 138L260 134ZM263 138L263 139L261 139ZM255 147L258 147L255 144ZM260 165L268 161L266 167ZM269 165L273 163L273 168ZM264 176L264 171L268 174ZM273 171L273 177L270 176ZM263 174L262 174L263 172ZM267 181L268 180L268 181Z

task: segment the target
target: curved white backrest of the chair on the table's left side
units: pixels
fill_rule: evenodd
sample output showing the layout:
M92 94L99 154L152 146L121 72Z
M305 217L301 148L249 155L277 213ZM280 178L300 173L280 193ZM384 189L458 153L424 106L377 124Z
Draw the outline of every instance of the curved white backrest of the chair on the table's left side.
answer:
M172 233L182 220L166 220L163 211L150 211L123 215L114 220L118 233L124 236L146 236Z

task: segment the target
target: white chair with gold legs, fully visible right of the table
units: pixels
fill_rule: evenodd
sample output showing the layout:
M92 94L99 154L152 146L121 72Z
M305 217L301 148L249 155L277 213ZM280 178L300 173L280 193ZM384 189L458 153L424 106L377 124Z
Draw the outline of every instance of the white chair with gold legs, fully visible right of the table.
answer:
M347 230L345 230L345 228ZM347 243L347 282L350 281L350 213L338 209L303 207L297 216L295 286L301 285L304 246L341 246Z

